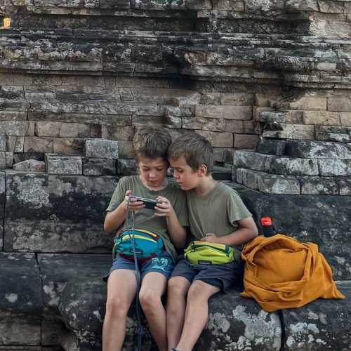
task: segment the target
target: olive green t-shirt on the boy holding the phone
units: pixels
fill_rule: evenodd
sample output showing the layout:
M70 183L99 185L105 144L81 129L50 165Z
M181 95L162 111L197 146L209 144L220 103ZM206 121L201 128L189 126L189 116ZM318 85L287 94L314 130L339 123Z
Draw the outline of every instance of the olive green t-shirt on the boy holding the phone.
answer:
M185 199L185 192L180 189L179 185L175 182L168 181L168 185L162 190L149 190L141 182L139 176L123 177L119 180L109 206L106 211L114 211L115 208L124 201L127 190L131 190L132 194L137 197L145 197L147 199L156 199L159 195L168 199L178 216L180 225L186 227L189 225L187 219L187 202ZM168 227L166 217L154 216L154 210L143 208L135 212L135 229L150 230L158 234L164 240L164 246L171 255L173 260L176 261L177 252L174 248L171 239L168 237ZM131 216L129 216L130 220ZM131 224L131 222L129 222Z

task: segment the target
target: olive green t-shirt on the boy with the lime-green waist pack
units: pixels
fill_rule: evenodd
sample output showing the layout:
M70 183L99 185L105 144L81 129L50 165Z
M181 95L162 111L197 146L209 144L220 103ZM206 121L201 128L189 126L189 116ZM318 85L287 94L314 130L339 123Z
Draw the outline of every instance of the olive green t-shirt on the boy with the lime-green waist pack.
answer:
M239 228L238 220L251 217L239 194L223 183L218 183L206 195L195 190L187 194L187 208L192 235L201 239L206 233L223 237ZM241 246L236 246L241 249Z

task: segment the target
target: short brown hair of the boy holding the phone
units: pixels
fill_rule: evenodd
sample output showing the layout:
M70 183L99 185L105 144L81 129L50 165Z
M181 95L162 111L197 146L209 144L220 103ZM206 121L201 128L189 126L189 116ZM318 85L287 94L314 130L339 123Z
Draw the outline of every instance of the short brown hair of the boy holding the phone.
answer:
M135 157L147 157L156 159L163 157L167 160L168 147L172 138L165 128L141 127L136 131L133 138Z

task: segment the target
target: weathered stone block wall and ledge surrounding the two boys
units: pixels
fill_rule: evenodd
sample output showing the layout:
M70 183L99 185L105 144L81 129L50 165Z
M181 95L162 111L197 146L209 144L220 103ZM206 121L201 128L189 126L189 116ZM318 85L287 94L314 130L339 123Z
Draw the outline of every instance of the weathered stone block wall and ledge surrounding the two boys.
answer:
M0 0L0 27L11 18L0 29L0 350L100 350L103 213L135 173L143 125L208 138L216 178L256 220L319 244L350 297L350 16L346 0ZM279 350L277 314L237 294L210 304L197 350ZM350 350L348 311L341 300L285 311L286 350ZM133 333L132 308L126 350Z

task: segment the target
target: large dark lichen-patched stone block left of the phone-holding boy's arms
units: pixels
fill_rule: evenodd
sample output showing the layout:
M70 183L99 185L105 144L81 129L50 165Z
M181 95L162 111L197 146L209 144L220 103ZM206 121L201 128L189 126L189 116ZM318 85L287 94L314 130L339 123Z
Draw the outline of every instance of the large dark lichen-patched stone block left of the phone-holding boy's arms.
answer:
M110 248L111 238L102 232L103 213L116 181L115 177L52 176L8 171L4 249L106 251Z

